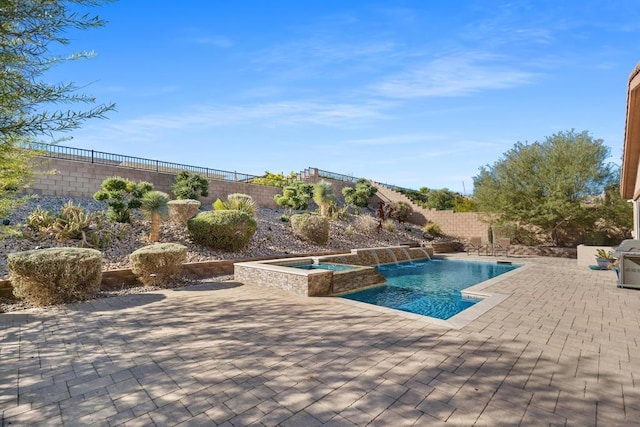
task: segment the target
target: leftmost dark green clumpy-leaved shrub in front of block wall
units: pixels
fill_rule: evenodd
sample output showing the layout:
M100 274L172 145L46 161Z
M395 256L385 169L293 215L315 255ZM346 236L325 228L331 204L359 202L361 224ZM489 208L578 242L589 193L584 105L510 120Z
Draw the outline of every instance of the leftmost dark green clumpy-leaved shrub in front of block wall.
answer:
M118 176L102 181L102 191L98 191L93 198L105 202L108 206L107 215L115 222L131 222L131 210L141 205L142 196L153 190L153 184L145 181L135 183Z

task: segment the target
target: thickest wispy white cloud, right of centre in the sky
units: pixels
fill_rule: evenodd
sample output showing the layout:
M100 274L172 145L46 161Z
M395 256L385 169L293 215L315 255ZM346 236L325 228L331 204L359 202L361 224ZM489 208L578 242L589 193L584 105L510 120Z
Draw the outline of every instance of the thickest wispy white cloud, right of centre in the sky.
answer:
M461 52L414 66L373 85L373 90L389 98L462 96L530 84L534 77L497 55Z

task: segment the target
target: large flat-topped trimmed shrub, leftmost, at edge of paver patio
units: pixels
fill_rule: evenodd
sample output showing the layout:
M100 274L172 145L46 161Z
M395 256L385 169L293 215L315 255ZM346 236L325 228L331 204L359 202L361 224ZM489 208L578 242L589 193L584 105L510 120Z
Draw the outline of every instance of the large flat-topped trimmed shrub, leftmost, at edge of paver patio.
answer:
M95 249L37 249L7 261L13 294L36 306L89 299L100 289L102 254Z

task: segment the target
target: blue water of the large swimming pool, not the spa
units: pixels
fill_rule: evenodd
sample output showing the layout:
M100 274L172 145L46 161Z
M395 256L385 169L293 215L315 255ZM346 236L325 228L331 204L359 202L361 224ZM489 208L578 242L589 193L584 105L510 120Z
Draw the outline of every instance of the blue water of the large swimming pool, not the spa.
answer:
M386 285L342 298L446 320L479 301L464 298L460 290L517 267L446 259L384 265L377 269L387 279Z

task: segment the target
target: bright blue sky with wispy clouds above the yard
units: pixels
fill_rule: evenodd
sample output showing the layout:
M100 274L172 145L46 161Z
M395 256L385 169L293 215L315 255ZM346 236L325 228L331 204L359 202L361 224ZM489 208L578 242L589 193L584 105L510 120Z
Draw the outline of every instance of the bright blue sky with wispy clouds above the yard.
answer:
M63 145L237 170L308 166L471 193L518 141L588 130L619 163L637 1L121 0L51 70L108 120Z

